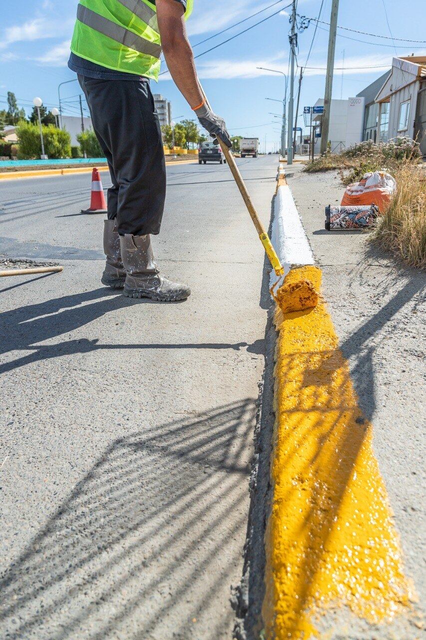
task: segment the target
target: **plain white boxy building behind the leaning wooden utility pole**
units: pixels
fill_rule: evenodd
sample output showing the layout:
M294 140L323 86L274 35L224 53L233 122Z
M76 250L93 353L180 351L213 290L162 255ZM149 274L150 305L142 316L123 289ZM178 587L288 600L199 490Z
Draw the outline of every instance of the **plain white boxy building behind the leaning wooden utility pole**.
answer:
M364 97L348 98L347 100L331 100L328 139L331 143L331 151L333 153L338 153L362 140L364 105ZM324 106L324 100L317 100L314 106ZM316 154L320 153L321 147L321 120L322 114L320 113L315 114L312 118L312 124L319 127L315 138Z

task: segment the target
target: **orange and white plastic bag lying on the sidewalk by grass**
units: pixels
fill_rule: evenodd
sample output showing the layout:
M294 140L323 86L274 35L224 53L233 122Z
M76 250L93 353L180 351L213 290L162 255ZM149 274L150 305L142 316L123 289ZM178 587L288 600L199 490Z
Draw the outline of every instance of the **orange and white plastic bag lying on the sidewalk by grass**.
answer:
M396 188L397 182L389 173L381 171L365 173L362 180L347 186L340 205L344 207L375 204L383 213Z

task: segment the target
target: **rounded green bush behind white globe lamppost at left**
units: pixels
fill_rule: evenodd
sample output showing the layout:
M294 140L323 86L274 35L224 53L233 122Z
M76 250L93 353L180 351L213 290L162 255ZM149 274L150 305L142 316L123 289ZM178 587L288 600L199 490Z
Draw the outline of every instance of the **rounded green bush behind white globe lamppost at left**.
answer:
M49 158L69 158L71 156L71 136L49 125L42 127L45 154ZM17 127L19 159L38 158L42 154L40 128L31 122L20 122Z

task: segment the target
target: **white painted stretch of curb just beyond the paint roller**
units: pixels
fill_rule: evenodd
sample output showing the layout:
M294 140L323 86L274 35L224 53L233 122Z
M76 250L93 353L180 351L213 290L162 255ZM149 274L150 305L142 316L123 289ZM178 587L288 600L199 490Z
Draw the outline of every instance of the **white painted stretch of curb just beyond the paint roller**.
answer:
M292 265L315 264L301 216L288 185L278 187L275 196L271 240L286 274ZM274 271L271 271L271 286L277 280Z

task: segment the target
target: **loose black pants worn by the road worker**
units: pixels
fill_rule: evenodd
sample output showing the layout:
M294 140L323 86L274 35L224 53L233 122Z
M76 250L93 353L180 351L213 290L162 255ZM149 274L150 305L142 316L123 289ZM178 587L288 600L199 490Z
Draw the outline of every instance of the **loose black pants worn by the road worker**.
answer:
M166 163L149 83L84 76L79 76L79 83L113 181L107 196L108 219L117 219L120 236L158 234Z

